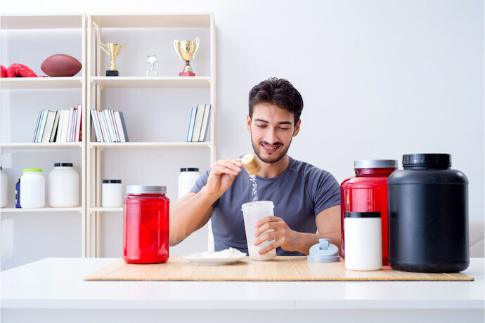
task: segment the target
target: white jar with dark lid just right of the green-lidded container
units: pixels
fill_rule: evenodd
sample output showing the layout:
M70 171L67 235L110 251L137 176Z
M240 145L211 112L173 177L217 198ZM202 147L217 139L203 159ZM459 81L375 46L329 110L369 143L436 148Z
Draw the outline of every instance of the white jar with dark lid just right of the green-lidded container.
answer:
M79 206L79 174L72 168L72 163L54 164L54 169L48 174L47 187L51 207Z

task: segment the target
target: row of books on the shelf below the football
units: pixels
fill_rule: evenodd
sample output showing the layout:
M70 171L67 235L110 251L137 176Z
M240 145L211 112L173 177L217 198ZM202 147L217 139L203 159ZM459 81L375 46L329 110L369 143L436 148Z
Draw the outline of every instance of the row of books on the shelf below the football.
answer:
M70 110L39 112L32 143L70 143L81 141L82 105Z

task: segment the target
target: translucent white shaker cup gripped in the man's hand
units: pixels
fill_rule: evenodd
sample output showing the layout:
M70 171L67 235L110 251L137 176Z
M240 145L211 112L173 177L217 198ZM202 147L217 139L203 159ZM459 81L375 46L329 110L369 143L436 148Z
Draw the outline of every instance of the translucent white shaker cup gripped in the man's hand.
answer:
M250 254L250 259L255 261L268 261L276 257L276 249L262 255L258 253L259 249L273 243L274 238L262 242L258 246L254 246L254 241L257 239L257 237L254 237L254 232L256 232L254 224L257 222L257 220L264 218L265 216L273 216L273 208L274 204L271 201L249 202L241 206L241 209L243 209L244 227L246 230L247 251ZM265 232L261 233L261 235L264 235L269 231L273 230L266 230Z

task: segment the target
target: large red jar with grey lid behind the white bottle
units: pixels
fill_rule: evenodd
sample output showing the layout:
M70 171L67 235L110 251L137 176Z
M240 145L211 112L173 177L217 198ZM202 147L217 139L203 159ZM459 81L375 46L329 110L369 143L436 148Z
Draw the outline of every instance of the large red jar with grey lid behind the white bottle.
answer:
M387 178L398 167L394 159L356 160L356 176L340 185L342 257L345 258L345 212L380 212L382 220L382 265L387 265Z

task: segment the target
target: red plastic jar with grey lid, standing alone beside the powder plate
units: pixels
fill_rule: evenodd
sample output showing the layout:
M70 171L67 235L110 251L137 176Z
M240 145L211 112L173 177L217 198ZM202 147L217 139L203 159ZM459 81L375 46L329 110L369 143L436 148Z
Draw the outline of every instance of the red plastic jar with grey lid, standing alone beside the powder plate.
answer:
M164 263L169 258L166 186L128 185L124 199L123 260Z

